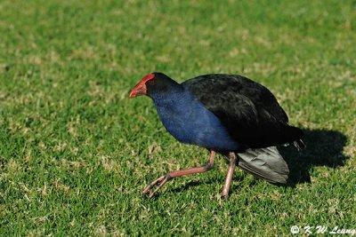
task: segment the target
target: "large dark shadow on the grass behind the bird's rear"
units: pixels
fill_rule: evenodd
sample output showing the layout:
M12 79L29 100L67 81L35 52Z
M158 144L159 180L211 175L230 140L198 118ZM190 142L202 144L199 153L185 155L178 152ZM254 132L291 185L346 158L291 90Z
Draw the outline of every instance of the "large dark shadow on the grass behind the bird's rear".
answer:
M306 147L298 152L291 146L279 146L289 168L287 186L311 182L310 171L316 166L336 168L349 158L343 154L346 136L337 130L303 130Z

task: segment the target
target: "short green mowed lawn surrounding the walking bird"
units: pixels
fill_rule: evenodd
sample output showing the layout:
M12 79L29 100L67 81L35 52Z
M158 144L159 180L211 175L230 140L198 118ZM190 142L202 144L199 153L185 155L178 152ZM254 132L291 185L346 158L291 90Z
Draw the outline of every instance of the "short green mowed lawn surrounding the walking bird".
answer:
M273 186L174 140L143 75L246 75L269 87L307 149ZM356 229L355 1L1 1L0 235L285 235ZM310 182L307 182L310 181ZM312 229L312 231L314 231ZM303 233L303 232L302 232Z

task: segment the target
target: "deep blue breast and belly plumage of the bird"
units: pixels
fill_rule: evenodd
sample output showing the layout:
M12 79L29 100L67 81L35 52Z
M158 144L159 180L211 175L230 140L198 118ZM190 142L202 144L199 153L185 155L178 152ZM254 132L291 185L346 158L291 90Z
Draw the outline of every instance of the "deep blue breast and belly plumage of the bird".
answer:
M217 151L237 151L220 120L187 90L152 95L158 115L166 130L182 143Z

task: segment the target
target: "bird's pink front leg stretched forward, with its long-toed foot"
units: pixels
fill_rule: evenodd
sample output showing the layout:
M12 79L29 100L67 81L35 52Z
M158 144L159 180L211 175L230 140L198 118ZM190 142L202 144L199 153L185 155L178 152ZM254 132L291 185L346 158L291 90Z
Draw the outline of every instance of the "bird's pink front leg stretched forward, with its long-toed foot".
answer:
M211 170L214 166L214 155L215 155L215 152L211 151L210 156L209 156L209 161L206 163L206 165L190 168L187 170L176 170L176 171L167 173L165 176L157 178L152 183L150 183L150 185L146 186L145 189L143 189L142 193L149 194L149 196L151 198L151 197L153 197L154 194L157 193L159 188L164 186L166 184L166 182L171 180L172 178L181 177L181 176L185 176L185 175L191 175L191 174L203 173L208 170ZM157 187L155 190L152 191L152 188L154 186L157 186Z

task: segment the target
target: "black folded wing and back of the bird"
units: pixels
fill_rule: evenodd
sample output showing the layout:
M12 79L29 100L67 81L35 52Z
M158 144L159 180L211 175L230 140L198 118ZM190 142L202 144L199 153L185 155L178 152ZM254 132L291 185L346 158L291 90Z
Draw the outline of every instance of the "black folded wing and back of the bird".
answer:
M251 148L293 142L303 131L288 117L271 91L240 75L200 75L182 86L211 112L239 144Z

